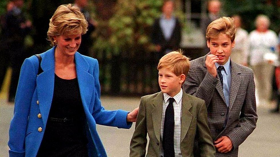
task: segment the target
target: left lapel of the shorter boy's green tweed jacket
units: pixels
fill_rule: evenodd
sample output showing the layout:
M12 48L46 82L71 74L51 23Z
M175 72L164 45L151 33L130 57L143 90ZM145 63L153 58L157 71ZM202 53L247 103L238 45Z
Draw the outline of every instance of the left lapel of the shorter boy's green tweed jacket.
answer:
M153 102L153 127L155 131L155 136L160 141L160 128L161 128L161 119L162 119L162 102L163 102L163 93L159 92Z

